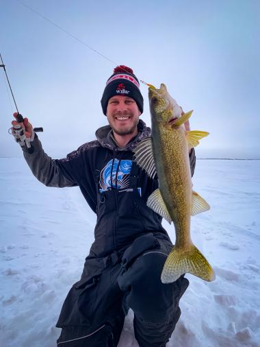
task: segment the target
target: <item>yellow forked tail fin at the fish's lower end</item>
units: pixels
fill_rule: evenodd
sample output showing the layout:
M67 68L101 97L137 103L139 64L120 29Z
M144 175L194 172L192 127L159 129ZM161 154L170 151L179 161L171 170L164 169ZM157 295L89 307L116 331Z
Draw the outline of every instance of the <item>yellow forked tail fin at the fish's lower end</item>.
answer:
M188 250L184 248L171 250L161 273L161 282L172 283L186 272L209 282L215 279L211 265L193 244Z

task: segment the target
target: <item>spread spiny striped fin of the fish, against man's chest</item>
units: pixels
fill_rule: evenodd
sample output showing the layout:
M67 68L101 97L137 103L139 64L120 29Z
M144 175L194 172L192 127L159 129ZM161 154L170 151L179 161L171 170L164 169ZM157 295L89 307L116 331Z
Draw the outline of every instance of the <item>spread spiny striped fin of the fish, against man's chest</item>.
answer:
M133 160L137 163L142 169L146 171L148 176L155 178L156 167L155 159L153 158L153 144L152 138L146 137L133 149Z

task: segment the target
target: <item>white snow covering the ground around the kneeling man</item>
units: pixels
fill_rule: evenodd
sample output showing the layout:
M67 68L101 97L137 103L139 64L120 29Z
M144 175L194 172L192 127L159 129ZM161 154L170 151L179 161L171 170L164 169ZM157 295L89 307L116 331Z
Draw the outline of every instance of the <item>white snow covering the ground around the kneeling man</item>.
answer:
M197 160L193 183L211 210L192 217L192 239L216 280L187 274L167 346L260 346L260 160ZM44 187L21 158L0 158L0 188L0 346L55 346L96 217L77 187ZM118 347L138 346L132 320L129 311Z

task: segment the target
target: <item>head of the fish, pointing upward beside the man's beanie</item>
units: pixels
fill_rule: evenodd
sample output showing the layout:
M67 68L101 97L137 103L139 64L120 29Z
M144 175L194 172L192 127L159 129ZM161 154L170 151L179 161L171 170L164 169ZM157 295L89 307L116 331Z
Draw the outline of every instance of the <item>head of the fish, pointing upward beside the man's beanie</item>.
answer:
M153 121L172 125L181 117L181 108L167 91L166 85L161 84L159 89L150 87L148 91L151 116Z

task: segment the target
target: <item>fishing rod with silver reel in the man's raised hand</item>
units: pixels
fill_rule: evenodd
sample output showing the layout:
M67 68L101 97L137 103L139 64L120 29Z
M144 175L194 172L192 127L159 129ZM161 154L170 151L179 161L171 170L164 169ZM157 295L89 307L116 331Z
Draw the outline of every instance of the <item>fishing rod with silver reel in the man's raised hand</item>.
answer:
M12 88L11 88L11 84L10 84L10 81L9 81L9 78L8 78L8 74L5 70L5 64L3 63L3 58L1 56L1 53L0 53L0 58L1 58L1 64L0 64L0 67L3 67L3 71L5 71L5 77L6 77L6 80L8 81L8 85L9 85L9 88L10 88L10 91L11 91L11 94L12 94L12 98L14 100L14 105L16 107L16 111L17 111L17 115L16 115L16 121L18 123L23 123L24 121L24 118L23 116L21 115L21 113L18 111L18 107L17 107L17 104L16 104L16 101L14 99L14 93L12 92ZM10 133L9 130L12 129L12 132ZM8 133L9 134L12 134L14 135L14 138L16 140L16 142L20 143L20 145L23 147L24 145L26 145L27 147L27 151L29 153L33 153L34 152L34 148L31 146L31 143L30 143L30 139L28 139L26 136L25 136L25 132L24 132L24 124L17 124L17 125L14 125L12 128L10 128L8 130ZM34 132L43 132L43 128L34 128Z

